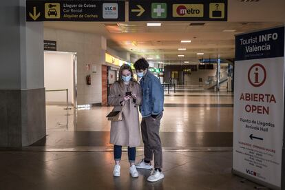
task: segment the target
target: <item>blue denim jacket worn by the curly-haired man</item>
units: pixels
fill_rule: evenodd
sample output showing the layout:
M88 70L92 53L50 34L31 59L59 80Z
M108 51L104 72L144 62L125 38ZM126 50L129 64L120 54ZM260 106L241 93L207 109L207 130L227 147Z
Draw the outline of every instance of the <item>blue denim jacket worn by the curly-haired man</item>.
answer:
M147 74L140 80L140 85L142 87L142 105L140 106L142 117L161 114L165 94L159 79L147 71Z

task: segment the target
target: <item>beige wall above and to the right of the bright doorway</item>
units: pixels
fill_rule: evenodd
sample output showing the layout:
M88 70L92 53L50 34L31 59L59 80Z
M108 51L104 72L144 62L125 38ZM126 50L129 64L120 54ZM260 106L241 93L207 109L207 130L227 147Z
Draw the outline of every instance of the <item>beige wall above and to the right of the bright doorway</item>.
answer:
M77 103L102 102L101 65L105 63L105 38L96 34L71 32L44 28L44 39L56 41L57 50L77 53ZM97 65L97 72L86 69L86 64ZM86 85L85 77L90 74L92 85Z

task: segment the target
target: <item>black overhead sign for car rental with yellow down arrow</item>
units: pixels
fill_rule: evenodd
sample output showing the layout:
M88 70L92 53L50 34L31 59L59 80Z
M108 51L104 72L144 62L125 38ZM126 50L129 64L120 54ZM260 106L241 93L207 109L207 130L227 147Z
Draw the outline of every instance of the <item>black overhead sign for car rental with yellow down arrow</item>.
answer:
M26 21L125 21L124 1L26 1Z

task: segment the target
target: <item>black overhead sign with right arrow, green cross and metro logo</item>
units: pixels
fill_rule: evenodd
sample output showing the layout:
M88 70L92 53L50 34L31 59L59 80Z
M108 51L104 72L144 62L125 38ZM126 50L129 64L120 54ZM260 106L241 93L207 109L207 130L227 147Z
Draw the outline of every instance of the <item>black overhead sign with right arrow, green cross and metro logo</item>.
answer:
M129 21L226 21L227 0L129 1Z

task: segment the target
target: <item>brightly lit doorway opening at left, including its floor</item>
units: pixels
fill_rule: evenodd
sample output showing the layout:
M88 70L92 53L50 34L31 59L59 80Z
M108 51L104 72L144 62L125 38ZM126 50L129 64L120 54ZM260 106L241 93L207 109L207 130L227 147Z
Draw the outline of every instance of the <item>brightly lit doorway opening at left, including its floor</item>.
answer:
M46 126L68 130L77 107L76 53L44 52Z

